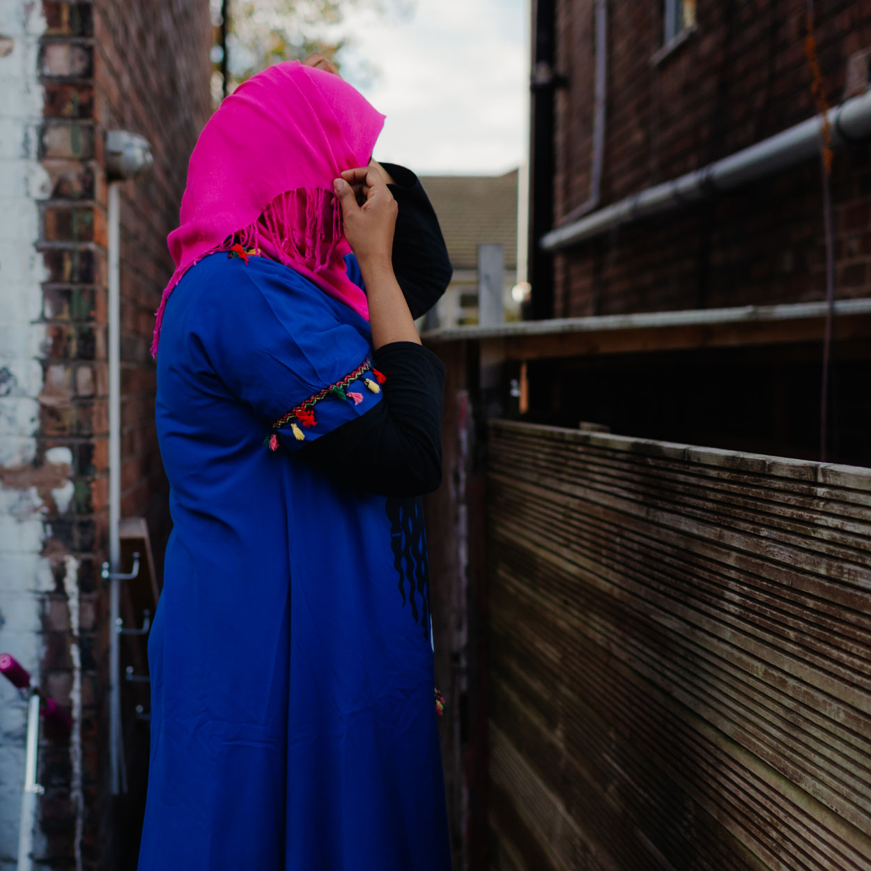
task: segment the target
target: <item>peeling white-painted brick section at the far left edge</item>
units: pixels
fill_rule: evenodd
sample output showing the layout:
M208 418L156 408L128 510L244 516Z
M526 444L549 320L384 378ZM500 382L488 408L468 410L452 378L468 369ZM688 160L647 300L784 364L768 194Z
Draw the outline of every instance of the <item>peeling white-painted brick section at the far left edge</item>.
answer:
M37 53L44 30L40 3L0 3L0 36L14 40L12 51L0 57L0 466L7 468L33 459L43 386L38 319L44 267L35 248L35 198L45 196L48 185L37 161L43 112ZM41 556L44 536L36 490L0 484L0 652L12 653L37 679L39 596L54 585ZM0 871L16 867L25 721L24 702L0 680ZM40 846L37 836L37 853Z

